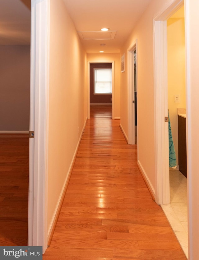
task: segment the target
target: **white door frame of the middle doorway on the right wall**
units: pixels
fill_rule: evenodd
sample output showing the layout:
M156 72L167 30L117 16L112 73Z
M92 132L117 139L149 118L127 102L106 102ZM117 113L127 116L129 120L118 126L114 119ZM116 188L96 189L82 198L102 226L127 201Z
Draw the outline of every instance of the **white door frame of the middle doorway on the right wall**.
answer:
M137 39L127 49L127 73L128 73L128 144L135 144L135 74L134 74L134 51L137 55ZM137 62L136 62L137 69ZM137 73L136 73L137 77ZM137 79L136 79L137 80Z

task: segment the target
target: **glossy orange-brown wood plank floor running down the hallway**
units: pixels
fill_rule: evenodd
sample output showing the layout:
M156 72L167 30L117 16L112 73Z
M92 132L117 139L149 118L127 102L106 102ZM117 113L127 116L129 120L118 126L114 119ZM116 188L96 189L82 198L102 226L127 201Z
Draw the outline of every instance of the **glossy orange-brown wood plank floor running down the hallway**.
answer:
M185 260L159 205L111 119L91 106L51 245L43 260Z

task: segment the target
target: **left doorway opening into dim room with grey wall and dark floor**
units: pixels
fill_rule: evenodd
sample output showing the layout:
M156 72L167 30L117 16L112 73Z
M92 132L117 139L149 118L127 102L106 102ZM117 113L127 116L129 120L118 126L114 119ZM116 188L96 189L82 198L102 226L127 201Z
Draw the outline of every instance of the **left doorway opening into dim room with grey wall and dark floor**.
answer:
M5 28L0 36L0 245L27 246L31 4L12 0L0 5L7 14L6 20L1 16Z

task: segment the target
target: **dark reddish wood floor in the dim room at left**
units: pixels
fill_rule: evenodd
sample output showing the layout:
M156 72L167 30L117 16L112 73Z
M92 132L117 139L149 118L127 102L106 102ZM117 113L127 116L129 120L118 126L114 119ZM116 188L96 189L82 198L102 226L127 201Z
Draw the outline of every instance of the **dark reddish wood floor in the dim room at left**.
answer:
M28 176L28 134L0 134L0 246L27 245Z

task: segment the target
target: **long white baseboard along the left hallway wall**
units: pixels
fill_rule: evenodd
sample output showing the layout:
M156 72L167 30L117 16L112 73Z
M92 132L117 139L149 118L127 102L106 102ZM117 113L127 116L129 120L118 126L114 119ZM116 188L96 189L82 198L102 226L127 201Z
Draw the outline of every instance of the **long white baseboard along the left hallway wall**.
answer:
M48 241L50 240L52 232L54 231L55 225L57 223L58 215L59 215L59 212L60 212L60 208L62 207L62 201L63 201L64 196L65 196L65 191L66 191L66 188L67 188L67 185L68 185L68 181L69 181L69 178L70 178L70 175L71 175L71 172L72 172L72 168L73 168L73 165L74 165L74 162L75 162L75 159L76 159L76 155L77 155L78 148L79 148L79 145L80 145L80 142L81 142L81 138L82 138L82 135L83 135L85 127L86 127L86 122L87 122L87 119L86 119L86 121L84 123L84 127L81 131L80 138L79 138L78 143L76 145L76 149L75 149L74 155L72 157L71 164L70 164L69 169L67 171L66 178L65 178L64 184L62 186L62 190L61 190L61 193L60 193L60 196L59 196L59 199L58 199L58 202L57 202L57 205L56 205L56 208L55 208L52 220L51 220L51 223L49 225Z

